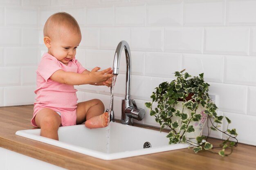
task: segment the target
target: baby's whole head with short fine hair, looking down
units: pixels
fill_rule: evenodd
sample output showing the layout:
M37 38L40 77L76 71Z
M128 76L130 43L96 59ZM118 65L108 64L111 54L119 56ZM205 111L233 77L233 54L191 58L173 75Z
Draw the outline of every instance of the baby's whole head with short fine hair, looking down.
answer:
M74 58L81 42L81 31L74 17L65 12L51 15L45 23L43 33L48 53L67 65Z

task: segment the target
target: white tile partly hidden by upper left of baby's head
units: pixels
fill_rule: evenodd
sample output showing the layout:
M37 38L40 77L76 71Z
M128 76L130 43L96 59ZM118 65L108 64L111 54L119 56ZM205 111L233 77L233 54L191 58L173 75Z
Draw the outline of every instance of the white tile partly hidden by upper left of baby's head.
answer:
M44 26L47 19L54 13L60 12L60 7L40 7L38 24Z

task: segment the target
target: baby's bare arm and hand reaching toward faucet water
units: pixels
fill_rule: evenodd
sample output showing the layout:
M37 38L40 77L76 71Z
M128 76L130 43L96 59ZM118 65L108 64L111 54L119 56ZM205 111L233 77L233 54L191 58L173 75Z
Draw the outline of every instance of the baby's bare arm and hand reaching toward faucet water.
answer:
M59 82L61 84L68 85L81 85L81 84L95 84L107 81L112 74L106 74L111 71L111 68L107 68L103 71L98 71L100 68L95 67L92 71L85 72L85 74L79 74L74 72L65 72L63 70L57 70L52 74L50 79Z

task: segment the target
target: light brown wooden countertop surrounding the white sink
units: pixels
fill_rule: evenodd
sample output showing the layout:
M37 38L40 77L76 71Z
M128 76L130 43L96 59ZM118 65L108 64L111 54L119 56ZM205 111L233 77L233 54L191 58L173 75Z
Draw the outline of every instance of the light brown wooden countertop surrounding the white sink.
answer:
M255 170L256 147L238 144L228 157L192 149L104 161L66 149L16 136L18 130L33 129L33 106L0 107L0 147L70 170ZM216 143L216 139L211 139Z

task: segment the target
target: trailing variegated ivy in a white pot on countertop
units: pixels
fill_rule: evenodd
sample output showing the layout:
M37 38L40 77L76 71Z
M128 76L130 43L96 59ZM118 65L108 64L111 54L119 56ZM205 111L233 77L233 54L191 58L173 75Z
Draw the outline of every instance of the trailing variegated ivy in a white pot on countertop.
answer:
M195 153L207 150L223 157L230 155L232 148L238 143L236 129L228 129L231 120L217 115L218 108L209 97L210 85L204 81L204 74L191 77L189 73L183 73L184 71L185 69L176 71L176 79L170 83L163 82L155 88L151 95L152 102L145 103L150 109L150 115L160 124L160 131L169 128L170 132L166 136L169 144L189 144L193 146ZM224 120L227 121L225 131L219 128ZM202 136L206 121L208 135ZM208 141L211 130L221 131L227 136L218 147L213 147ZM233 141L230 141L231 138ZM227 148L231 149L230 152L227 152Z

